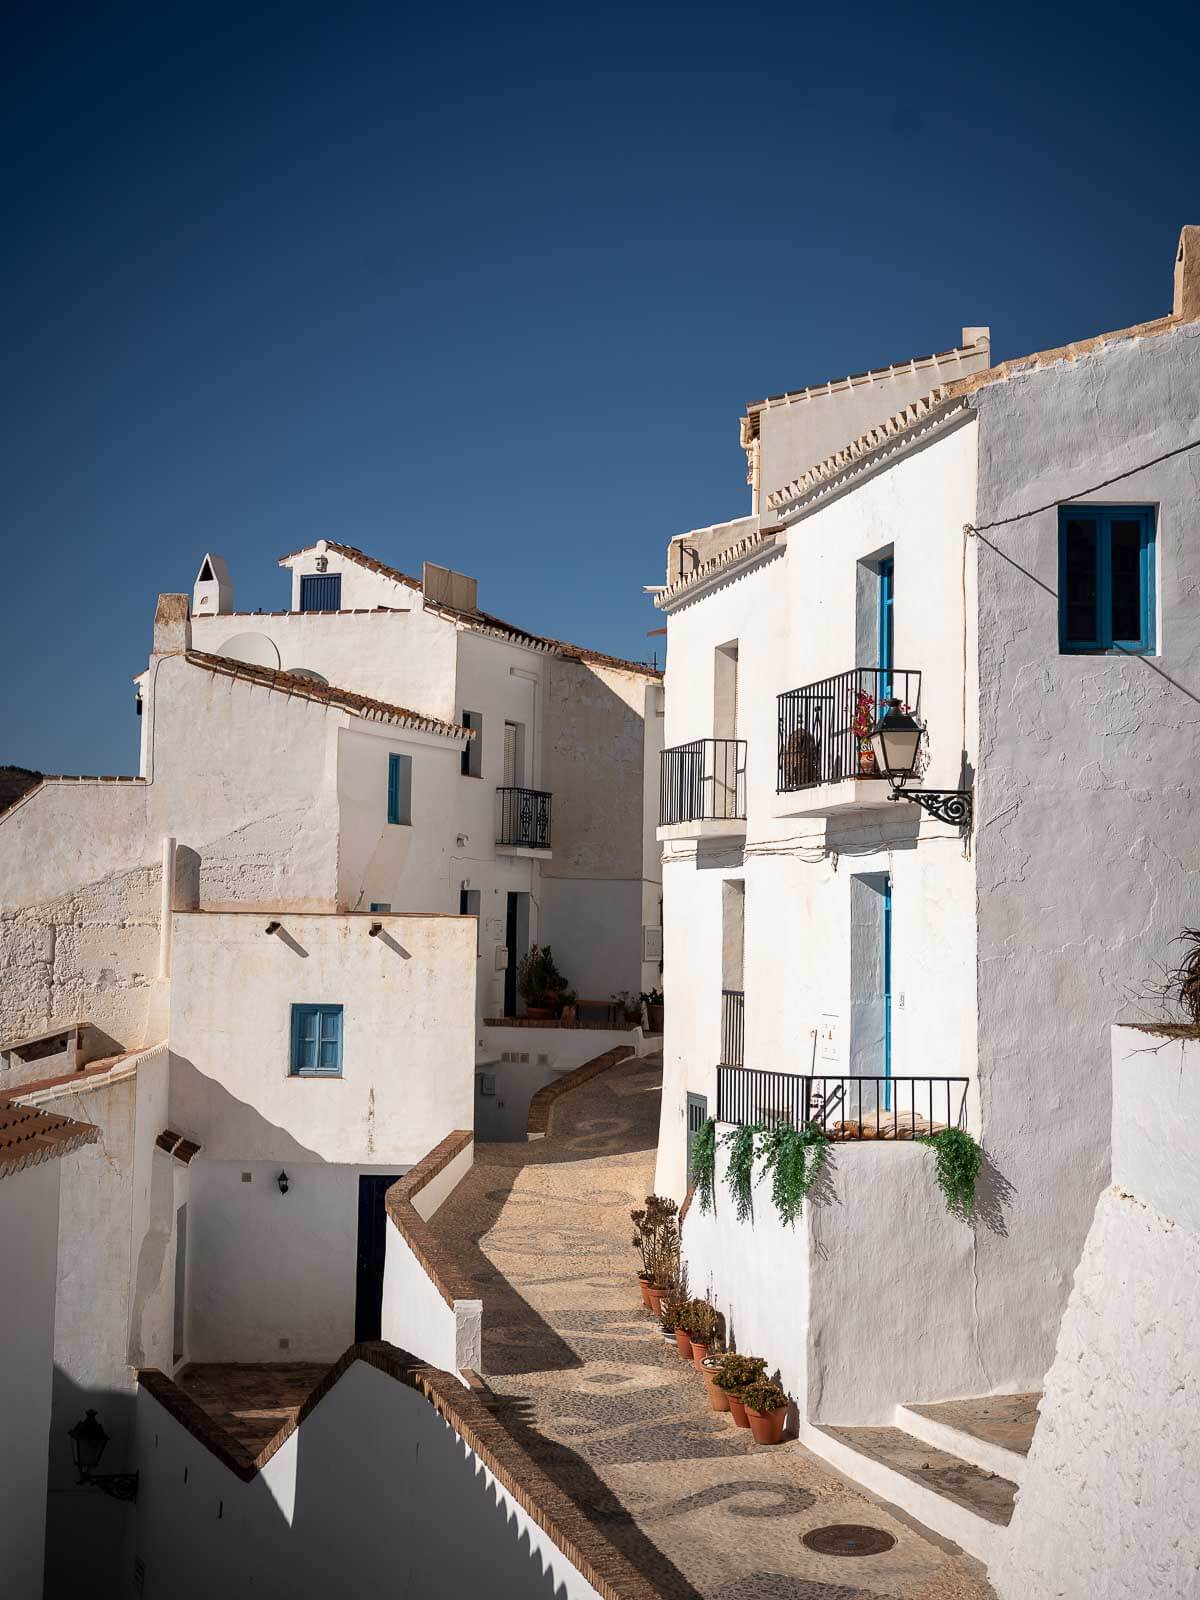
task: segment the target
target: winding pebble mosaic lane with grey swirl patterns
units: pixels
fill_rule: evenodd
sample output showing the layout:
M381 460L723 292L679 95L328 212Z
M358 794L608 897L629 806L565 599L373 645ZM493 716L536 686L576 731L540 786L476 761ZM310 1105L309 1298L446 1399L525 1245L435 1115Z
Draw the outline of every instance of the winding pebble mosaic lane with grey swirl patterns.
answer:
M710 1411L642 1309L629 1210L653 1182L659 1088L658 1062L627 1061L563 1096L546 1139L475 1146L432 1219L483 1299L498 1419L667 1600L990 1600L938 1534ZM800 1541L827 1523L896 1544L818 1555Z

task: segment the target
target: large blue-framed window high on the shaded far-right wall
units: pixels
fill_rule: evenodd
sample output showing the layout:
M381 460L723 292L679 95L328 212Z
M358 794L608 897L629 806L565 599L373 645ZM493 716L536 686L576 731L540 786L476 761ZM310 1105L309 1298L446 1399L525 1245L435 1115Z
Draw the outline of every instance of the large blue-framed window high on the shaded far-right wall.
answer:
M1059 506L1059 650L1152 654L1154 565L1154 506Z

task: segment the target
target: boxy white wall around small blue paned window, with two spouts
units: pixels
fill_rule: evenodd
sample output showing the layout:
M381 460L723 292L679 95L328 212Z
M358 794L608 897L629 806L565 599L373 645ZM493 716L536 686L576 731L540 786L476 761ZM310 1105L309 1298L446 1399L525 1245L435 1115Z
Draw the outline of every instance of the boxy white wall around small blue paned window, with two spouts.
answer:
M176 912L173 1126L211 1162L402 1168L469 1128L474 920L280 920L267 934L262 912ZM320 1000L344 1006L342 1075L293 1077L291 1006Z

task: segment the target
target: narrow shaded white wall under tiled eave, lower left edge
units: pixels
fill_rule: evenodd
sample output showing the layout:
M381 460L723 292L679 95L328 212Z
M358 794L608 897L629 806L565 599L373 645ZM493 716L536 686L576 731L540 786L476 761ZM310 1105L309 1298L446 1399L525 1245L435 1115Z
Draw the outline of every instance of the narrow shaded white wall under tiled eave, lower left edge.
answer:
M0 1582L13 1600L42 1595L46 1451L54 1368L59 1163L0 1179L0 1338L5 1448L0 1450Z

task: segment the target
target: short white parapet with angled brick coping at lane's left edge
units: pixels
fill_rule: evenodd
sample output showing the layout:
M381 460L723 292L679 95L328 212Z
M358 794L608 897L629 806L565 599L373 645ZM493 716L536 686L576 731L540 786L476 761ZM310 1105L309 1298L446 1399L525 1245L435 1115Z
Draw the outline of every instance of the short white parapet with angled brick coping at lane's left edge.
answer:
M451 1133L387 1192L382 1336L462 1378L480 1366L483 1302L426 1224L470 1171L474 1136Z

